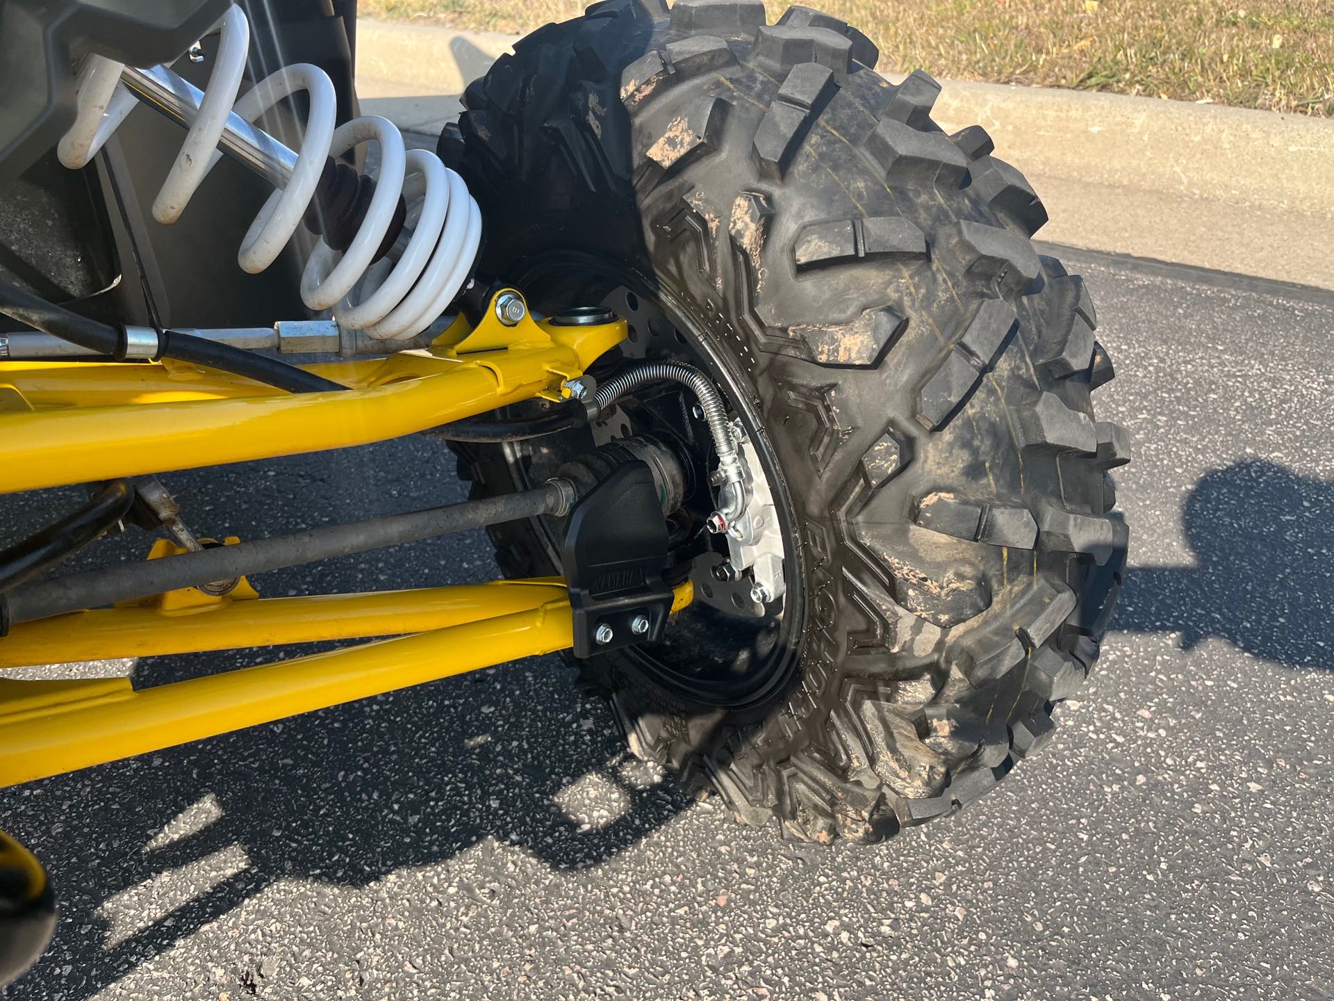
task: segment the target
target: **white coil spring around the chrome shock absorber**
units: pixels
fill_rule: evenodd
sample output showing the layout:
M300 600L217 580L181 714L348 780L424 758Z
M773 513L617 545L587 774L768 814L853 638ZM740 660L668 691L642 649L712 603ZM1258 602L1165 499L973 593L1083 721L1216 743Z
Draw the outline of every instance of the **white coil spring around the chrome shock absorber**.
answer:
M305 91L309 116L296 168L287 186L276 190L255 216L241 242L237 263L251 274L273 263L301 224L325 157L342 156L374 140L379 145L380 165L366 219L342 255L320 240L301 274L301 300L312 310L332 308L340 326L364 330L372 338L420 334L458 294L482 242L482 212L463 178L440 163L435 153L406 151L403 136L388 119L367 115L335 129L338 95L334 81L316 65L284 67L236 100L249 48L249 24L240 8L231 7L212 31L221 35L216 65L199 115L153 200L153 218L160 223L180 218L191 195L221 159L217 141L229 112L253 123L284 97ZM137 103L120 81L123 68L121 63L103 56L89 56L85 61L79 75L75 124L57 149L67 167L85 165ZM407 203L407 227L412 238L388 274L378 267L368 276L400 195ZM354 302L354 290L363 278L367 282L359 291L359 300Z

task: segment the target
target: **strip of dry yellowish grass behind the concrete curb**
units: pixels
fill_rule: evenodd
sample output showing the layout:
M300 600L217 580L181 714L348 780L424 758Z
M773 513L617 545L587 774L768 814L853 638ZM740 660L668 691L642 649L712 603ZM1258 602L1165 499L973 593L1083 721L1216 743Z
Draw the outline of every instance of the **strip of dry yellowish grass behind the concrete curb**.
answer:
M1334 0L810 0L880 69L1334 116ZM790 4L766 0L770 19ZM362 0L387 20L524 32L579 0Z

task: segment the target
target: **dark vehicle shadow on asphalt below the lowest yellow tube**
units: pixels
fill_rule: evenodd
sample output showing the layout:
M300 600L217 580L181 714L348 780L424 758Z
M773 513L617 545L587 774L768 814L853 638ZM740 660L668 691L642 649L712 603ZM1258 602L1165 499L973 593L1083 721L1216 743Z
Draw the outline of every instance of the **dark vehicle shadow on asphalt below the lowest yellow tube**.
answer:
M366 886L498 844L595 866L691 802L554 657L32 790L9 822L55 873L61 922L15 998L92 996L283 878ZM81 799L111 807L63 836Z

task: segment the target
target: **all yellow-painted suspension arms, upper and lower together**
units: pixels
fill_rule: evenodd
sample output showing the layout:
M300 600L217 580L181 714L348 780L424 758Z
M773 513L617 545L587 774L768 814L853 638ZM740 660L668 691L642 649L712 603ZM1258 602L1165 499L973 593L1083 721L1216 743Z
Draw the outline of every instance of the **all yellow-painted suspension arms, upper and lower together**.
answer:
M292 395L172 360L0 363L0 492L343 448L559 399L626 336L623 320L483 315L424 351L309 366L346 392ZM675 606L688 601L686 585ZM0 786L563 650L572 627L559 578L273 599L188 589L13 626L0 669L372 637L399 638L144 690L0 678Z

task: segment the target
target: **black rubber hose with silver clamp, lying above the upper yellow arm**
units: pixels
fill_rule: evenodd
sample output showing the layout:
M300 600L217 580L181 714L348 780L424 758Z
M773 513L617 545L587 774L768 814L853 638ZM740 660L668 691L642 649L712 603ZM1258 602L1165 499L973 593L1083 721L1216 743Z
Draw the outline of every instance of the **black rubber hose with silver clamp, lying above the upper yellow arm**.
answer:
M117 362L125 359L123 331L48 303L8 282L0 282L0 312L99 355L109 355ZM347 388L323 375L308 372L276 358L175 330L159 335L157 355L243 375L288 392L328 392Z

